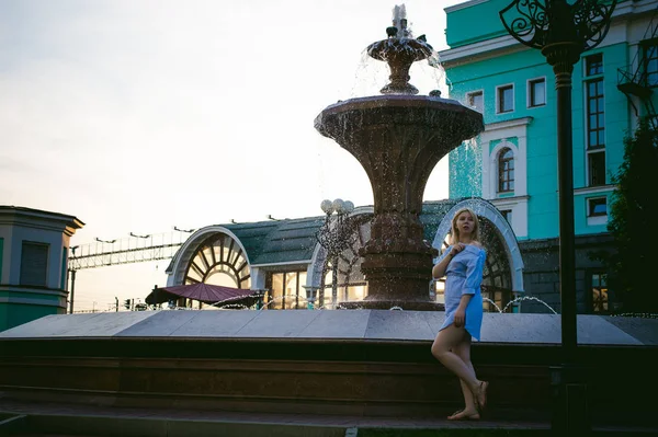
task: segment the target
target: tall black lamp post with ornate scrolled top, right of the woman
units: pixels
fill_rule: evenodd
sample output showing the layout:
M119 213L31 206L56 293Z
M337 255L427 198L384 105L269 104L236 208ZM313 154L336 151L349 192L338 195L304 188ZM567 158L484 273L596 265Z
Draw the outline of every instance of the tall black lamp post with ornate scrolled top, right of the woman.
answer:
M576 367L576 250L571 133L571 73L580 55L603 41L616 0L514 0L500 11L507 31L521 44L542 50L555 73L559 189L559 289L561 366L554 369L557 435L589 433L587 391Z

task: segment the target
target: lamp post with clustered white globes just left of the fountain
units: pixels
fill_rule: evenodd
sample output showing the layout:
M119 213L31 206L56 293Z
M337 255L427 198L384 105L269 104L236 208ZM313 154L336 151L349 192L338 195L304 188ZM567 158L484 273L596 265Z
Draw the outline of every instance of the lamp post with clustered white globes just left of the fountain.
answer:
M352 243L351 229L345 225L348 216L354 210L354 204L340 198L333 202L326 199L320 204L320 208L326 218L316 238L327 251L327 258L331 260L331 303L336 308L338 302L338 260L341 252ZM324 297L324 290L320 290L320 296Z

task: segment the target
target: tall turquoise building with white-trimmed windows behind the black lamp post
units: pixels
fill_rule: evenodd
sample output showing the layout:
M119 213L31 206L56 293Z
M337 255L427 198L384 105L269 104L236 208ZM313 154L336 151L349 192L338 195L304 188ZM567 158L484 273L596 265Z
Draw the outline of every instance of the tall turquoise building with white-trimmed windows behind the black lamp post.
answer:
M445 9L450 48L440 57L450 97L480 111L486 124L479 137L450 154L450 197L481 197L498 208L523 254L524 294L559 308L555 77L540 50L506 31L499 12L510 2L472 0ZM574 67L579 312L615 309L606 272L588 254L611 240L611 175L623 161L624 137L638 116L653 116L656 125L657 8L656 0L620 1L603 42Z

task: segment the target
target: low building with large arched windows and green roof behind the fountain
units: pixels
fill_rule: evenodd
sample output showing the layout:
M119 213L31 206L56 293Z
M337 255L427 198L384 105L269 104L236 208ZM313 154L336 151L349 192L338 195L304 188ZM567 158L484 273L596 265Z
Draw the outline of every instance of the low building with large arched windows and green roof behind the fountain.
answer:
M478 215L487 246L485 309L522 311L510 303L524 290L521 252L514 232L491 203L472 197L424 202L420 214L424 240L439 251L444 249L451 219L463 207ZM309 302L314 308L337 309L359 302L367 296L359 251L370 239L372 218L373 207L365 206L342 217L207 226L190 235L173 256L167 286L204 283L261 290L266 309L306 309ZM344 244L331 255L320 241L339 233ZM428 298L443 302L443 280L433 281L431 272Z

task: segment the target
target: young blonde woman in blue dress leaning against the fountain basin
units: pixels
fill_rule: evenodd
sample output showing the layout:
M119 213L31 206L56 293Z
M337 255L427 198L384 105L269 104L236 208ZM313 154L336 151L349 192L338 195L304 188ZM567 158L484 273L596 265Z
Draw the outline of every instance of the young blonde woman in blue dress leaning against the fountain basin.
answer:
M479 243L479 222L468 208L452 219L451 245L439 257L432 276L445 279L445 322L434 343L432 355L460 378L464 409L450 421L477 421L487 405L487 381L477 379L470 363L470 341L479 341L483 324L480 285L486 252Z

